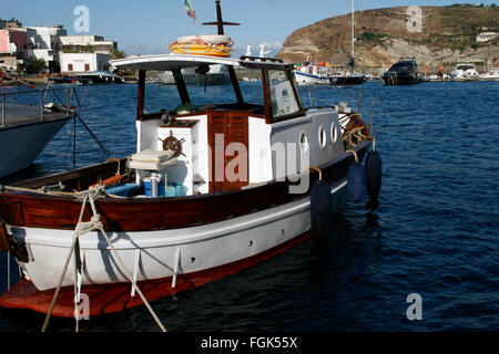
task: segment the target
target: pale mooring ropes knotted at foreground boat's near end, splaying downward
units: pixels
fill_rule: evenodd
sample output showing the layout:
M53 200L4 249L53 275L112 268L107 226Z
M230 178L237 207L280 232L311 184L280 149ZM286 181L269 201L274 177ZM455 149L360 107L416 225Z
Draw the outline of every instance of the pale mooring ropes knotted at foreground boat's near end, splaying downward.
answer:
M165 329L164 325L161 323L160 319L157 317L157 315L155 314L155 312L153 311L153 309L152 309L151 305L149 304L149 302L147 302L147 300L145 299L145 296L144 296L144 294L142 293L142 291L139 289L136 282L133 280L132 275L130 274L130 272L129 272L129 270L126 269L125 264L123 263L122 259L121 259L120 256L118 254L116 249L115 249L114 246L111 243L111 240L109 239L108 233L106 233L105 230L104 230L104 226L103 226L103 223L102 223L102 221L101 221L101 216L96 212L95 200L94 200L95 196L98 196L99 192L100 192L101 190L102 190L102 186L96 186L95 188L92 188L92 189L90 189L90 190L86 190L86 191L84 192L84 195L83 195L83 202L82 202L82 206L81 206L80 217L79 217L77 227L75 227L75 229L74 229L73 240L72 240L72 242L71 242L71 249L70 249L70 252L69 252L69 254L68 254L68 257L67 257L67 259L65 259L64 267L63 267L63 270L62 270L62 274L61 274L61 277L59 278L59 283L58 283L58 287L57 287L55 292L54 292L54 294L53 294L52 303L50 304L50 309L49 309L49 312L47 313L45 321L44 321L44 323L43 323L43 326L42 326L42 330L41 330L41 331L42 331L42 332L45 332L47 326L49 325L49 320L50 320L50 317L51 317L51 315L52 315L53 308L55 306L55 302L57 302L57 300L58 300L59 292L60 292L60 290L61 290L62 281L63 281L63 279L64 279L64 277L65 277L65 273L67 273L67 271L68 271L68 267L69 267L69 262L70 262L70 260L71 260L71 256L72 256L73 252L75 251L75 246L77 246L77 243L78 243L79 237L82 236L82 235L84 235L84 233L88 233L88 232L90 232L90 231L101 231L102 235L104 236L104 238L105 238L105 240L106 240L106 242L108 242L110 249L111 249L111 252L113 253L113 256L115 257L115 259L116 259L118 262L120 263L121 270L125 273L126 279L132 283L132 285L134 287L135 291L139 293L139 295L141 296L142 301L144 302L145 306L146 306L147 310L151 312L151 315L152 315L153 319L156 321L156 323L157 323L157 325L160 326L160 329L161 329L163 332L166 332L166 329ZM83 219L83 214L84 214L85 206L86 206L86 202L88 202L88 201L90 201L90 206L91 206L91 208L92 208L92 214L93 214L93 216L92 216L92 218L90 219L90 221L83 222L83 221L82 221L82 219ZM75 257L78 257L78 256L75 254ZM77 291L77 288L74 288L74 289L75 289L75 291ZM77 296L75 296L75 300L77 300ZM75 301L75 309L78 310L78 302L77 302L77 301ZM77 314L77 313L75 313L75 314ZM78 314L75 315L75 319L77 319L77 326L75 326L75 330L77 330L77 332L78 332L78 330L79 330L79 326L78 326Z

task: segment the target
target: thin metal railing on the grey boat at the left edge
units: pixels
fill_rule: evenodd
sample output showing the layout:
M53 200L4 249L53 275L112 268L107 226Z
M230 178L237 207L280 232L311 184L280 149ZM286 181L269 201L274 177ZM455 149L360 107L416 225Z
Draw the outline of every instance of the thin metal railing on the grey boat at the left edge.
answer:
M69 116L74 107L72 101L77 100L80 106L74 86L69 87L52 87L47 86L42 88L30 88L22 91L2 91L1 92L1 117L0 127L7 127L9 123L16 123L12 117L9 117L9 105L24 106L22 121L44 121L50 114L54 112L65 112ZM37 111L39 108L39 111ZM53 116L53 115L52 115Z

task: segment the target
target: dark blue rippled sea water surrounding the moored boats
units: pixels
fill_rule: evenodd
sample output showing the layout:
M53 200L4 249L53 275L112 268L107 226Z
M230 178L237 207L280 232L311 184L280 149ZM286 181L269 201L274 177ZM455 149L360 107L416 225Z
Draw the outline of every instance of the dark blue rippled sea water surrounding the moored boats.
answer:
M256 92L256 83L242 83ZM173 332L420 332L499 330L499 83L299 88L305 106L347 102L369 119L374 103L383 187L375 210L347 201L327 237L312 237L235 275L152 303ZM134 85L79 87L81 116L121 157L135 152ZM172 87L150 84L146 108L172 107ZM196 87L202 96L204 88ZM207 87L206 102L227 96ZM256 97L256 95L255 95ZM232 96L227 96L231 101ZM73 122L35 164L0 183L72 168ZM99 146L77 125L78 166ZM4 254L0 292L7 289ZM17 268L12 264L12 274ZM421 320L409 320L409 294ZM39 331L43 316L0 311L0 331ZM71 332L74 320L52 319ZM145 308L80 322L80 331L157 331Z

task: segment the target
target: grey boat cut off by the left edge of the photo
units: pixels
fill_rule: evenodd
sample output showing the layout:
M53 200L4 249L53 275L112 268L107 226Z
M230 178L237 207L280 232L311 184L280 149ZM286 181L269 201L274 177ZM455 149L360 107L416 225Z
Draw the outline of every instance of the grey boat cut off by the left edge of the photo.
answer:
M8 95L26 92L6 93ZM43 94L43 92L41 93ZM0 177L31 165L45 145L72 117L69 111L53 104L27 106L2 102L0 116Z

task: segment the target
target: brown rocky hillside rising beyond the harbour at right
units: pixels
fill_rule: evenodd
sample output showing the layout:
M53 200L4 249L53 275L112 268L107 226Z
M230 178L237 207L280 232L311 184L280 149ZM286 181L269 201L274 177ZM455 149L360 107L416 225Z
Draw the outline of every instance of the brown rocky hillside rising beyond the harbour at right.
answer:
M430 69L456 62L499 61L499 38L476 41L481 31L499 32L498 7L457 4L420 7L420 11L419 22L406 7L356 11L357 65L389 66L400 56L415 56ZM344 65L350 53L350 14L334 17L296 30L276 56L301 62L309 54L316 61Z

